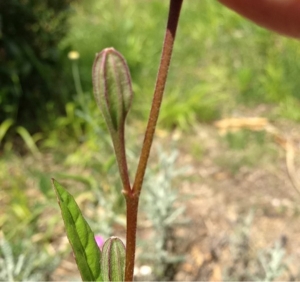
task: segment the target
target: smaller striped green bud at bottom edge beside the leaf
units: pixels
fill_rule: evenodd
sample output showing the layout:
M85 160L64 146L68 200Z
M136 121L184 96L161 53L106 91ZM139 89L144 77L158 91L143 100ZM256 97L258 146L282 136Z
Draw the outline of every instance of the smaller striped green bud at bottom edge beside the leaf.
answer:
M125 246L117 237L110 237L103 245L101 258L103 281L124 281Z

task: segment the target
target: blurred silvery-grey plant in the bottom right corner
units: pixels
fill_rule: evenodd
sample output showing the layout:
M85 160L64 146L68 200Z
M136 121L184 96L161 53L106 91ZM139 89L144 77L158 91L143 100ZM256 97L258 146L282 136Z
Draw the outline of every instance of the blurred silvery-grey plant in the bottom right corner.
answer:
M283 274L290 275L285 236L273 246L253 252L251 237L253 218L254 213L251 212L236 224L235 234L229 242L232 260L224 271L224 280L271 282L278 280Z

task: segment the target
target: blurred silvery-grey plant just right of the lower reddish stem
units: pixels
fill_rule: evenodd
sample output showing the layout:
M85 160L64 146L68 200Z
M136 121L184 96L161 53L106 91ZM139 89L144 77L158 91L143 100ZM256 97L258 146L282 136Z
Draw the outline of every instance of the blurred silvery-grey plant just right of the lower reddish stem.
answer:
M175 280L187 248L183 238L175 232L188 223L183 216L185 205L181 201L178 205L180 196L175 186L175 180L187 171L187 167L176 168L177 158L177 151L167 154L159 148L157 165L148 170L145 179L142 206L154 232L148 244L148 240L142 242L146 252L139 260L151 263L155 281Z

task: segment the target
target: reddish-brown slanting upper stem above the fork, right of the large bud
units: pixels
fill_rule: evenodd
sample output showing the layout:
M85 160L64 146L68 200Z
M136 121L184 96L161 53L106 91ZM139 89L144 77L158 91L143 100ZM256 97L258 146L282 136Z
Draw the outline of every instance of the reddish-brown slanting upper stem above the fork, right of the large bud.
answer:
M141 151L141 156L133 184L133 193L140 194L144 175L148 163L148 158L153 142L155 127L158 120L160 105L163 98L163 93L166 85L169 65L172 57L172 50L175 41L175 35L183 0L170 0L169 18L164 39L163 51L161 55L160 66L156 79L152 107L148 120L148 125L144 137L144 143Z

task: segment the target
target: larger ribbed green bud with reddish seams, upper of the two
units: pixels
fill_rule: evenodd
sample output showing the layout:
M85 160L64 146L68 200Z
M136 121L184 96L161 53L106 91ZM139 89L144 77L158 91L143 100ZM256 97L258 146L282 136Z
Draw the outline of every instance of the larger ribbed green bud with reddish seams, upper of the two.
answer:
M130 72L124 57L114 48L96 55L93 65L93 87L96 102L110 131L124 126L131 105Z

